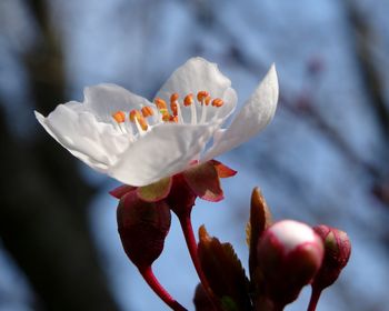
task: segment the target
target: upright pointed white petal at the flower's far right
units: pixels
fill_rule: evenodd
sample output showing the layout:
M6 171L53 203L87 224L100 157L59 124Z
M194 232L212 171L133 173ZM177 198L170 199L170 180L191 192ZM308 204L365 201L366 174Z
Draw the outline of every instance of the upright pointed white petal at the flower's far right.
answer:
M236 148L262 130L273 118L278 101L278 79L275 64L260 82L258 88L245 103L231 126L219 132L212 148L202 161Z

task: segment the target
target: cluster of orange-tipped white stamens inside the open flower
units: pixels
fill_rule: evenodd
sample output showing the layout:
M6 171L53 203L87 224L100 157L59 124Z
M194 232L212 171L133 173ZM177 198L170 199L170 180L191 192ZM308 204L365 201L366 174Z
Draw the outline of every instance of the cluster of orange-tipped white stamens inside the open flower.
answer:
M134 124L139 134L147 132L152 126L160 122L186 123L182 118L182 109L190 109L190 123L198 123L197 107L200 107L200 122L205 123L207 119L207 107L212 106L219 108L223 106L223 100L220 98L212 99L207 91L199 91L197 96L189 93L179 101L180 96L172 93L170 96L170 110L167 102L161 98L154 99L156 107L144 106L140 110L131 110L126 118L126 112L116 111L112 118L121 131L131 132L131 123ZM197 100L197 102L196 102ZM148 120L149 119L149 122ZM151 119L151 120L150 120Z

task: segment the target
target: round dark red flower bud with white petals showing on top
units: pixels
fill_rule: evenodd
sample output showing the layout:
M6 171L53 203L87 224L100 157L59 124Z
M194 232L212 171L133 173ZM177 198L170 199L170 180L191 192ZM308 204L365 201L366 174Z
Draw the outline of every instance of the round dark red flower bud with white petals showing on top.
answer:
M261 294L283 308L297 299L319 270L323 245L307 224L283 220L263 232L257 253Z

